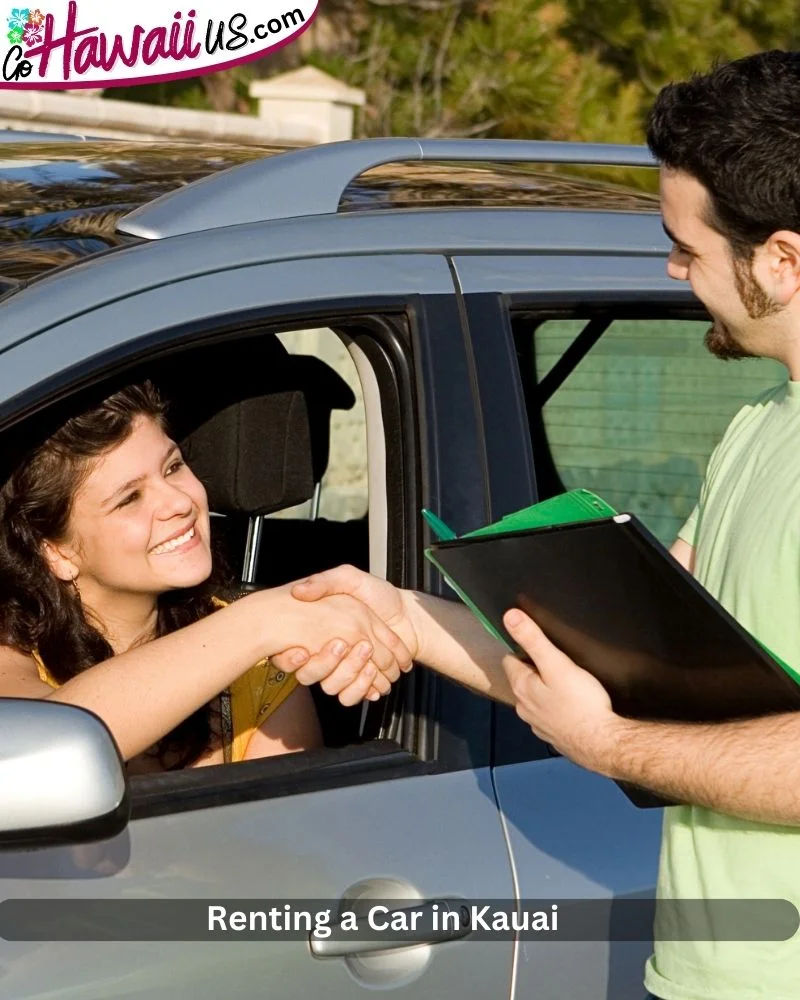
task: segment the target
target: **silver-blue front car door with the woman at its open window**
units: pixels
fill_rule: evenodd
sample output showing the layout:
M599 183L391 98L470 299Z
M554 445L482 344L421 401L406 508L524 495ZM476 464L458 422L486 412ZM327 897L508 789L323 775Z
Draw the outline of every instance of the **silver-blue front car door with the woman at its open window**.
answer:
M309 317L359 309L406 317L414 345L383 345L380 351L404 370L403 391L415 405L424 410L435 390L439 405L447 407L445 375L453 379L465 361L458 355L463 341L443 258L309 255L259 263L252 239L222 233L209 249L204 237L112 254L7 300L0 308L2 416L27 412L45 397L91 382L109 365L166 351L182 338L221 335L243 318L297 326ZM250 255L246 262L244 254ZM461 403L453 405L457 417ZM384 410L385 420L399 421L384 428L395 443L401 433L412 441L416 434L408 424L419 411L399 416L402 409L397 403ZM476 448L465 424L449 443L449 461L458 465L460 453L469 465ZM413 465L419 456L409 458ZM427 452L422 464L436 465ZM433 489L437 502L456 505L471 489L457 475L434 479L435 489L422 487L423 501ZM416 555L407 551L416 544L416 522L406 504L405 526L395 526L389 540L390 565L404 567L409 583L416 583ZM136 901L185 900L186 913L196 919L196 901L265 910L275 901L302 908L309 900L335 909L342 900L370 895L411 902L512 898L488 767L490 706L473 699L469 727L463 719L451 726L448 712L457 714L457 707L449 691L440 692L439 729L424 752L382 740L134 782L133 819L113 841L0 853L0 897L103 899L114 903L118 909L108 912L120 920ZM381 953L361 953L354 945L349 953L322 958L312 953L307 934L240 940L201 933L190 940L189 916L184 924L180 912L152 912L161 916L150 929L131 917L131 940L82 940L101 929L76 916L64 932L75 941L0 943L0 997L249 1000L274 993L307 1000L380 988L409 1000L445 1000L510 991L510 941L452 940ZM149 933L161 939L147 940Z

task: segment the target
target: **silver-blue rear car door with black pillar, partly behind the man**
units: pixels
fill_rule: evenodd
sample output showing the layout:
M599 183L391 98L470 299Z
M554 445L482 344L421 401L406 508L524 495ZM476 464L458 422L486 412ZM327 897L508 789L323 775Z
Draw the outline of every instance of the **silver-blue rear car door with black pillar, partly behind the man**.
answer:
M538 427L530 419L533 393L527 394L526 405L523 380L533 379L525 367L532 355L520 355L512 329L515 309L538 308L551 314L560 309L569 317L581 301L610 300L622 309L660 301L676 310L693 308L696 315L697 305L669 282L660 257L496 254L455 258L453 263L475 355L477 392L488 416L487 478L492 484L492 516L499 518L552 495L543 489L549 452L546 436L536 433ZM489 398L506 402L491 408ZM595 484L570 482L560 488L577 486ZM512 712L499 706L495 711L493 776L520 898L625 900L652 895L661 810L637 809L612 781L551 756ZM562 930L568 934L563 921ZM514 996L641 1000L643 965L650 950L646 939L521 940Z

